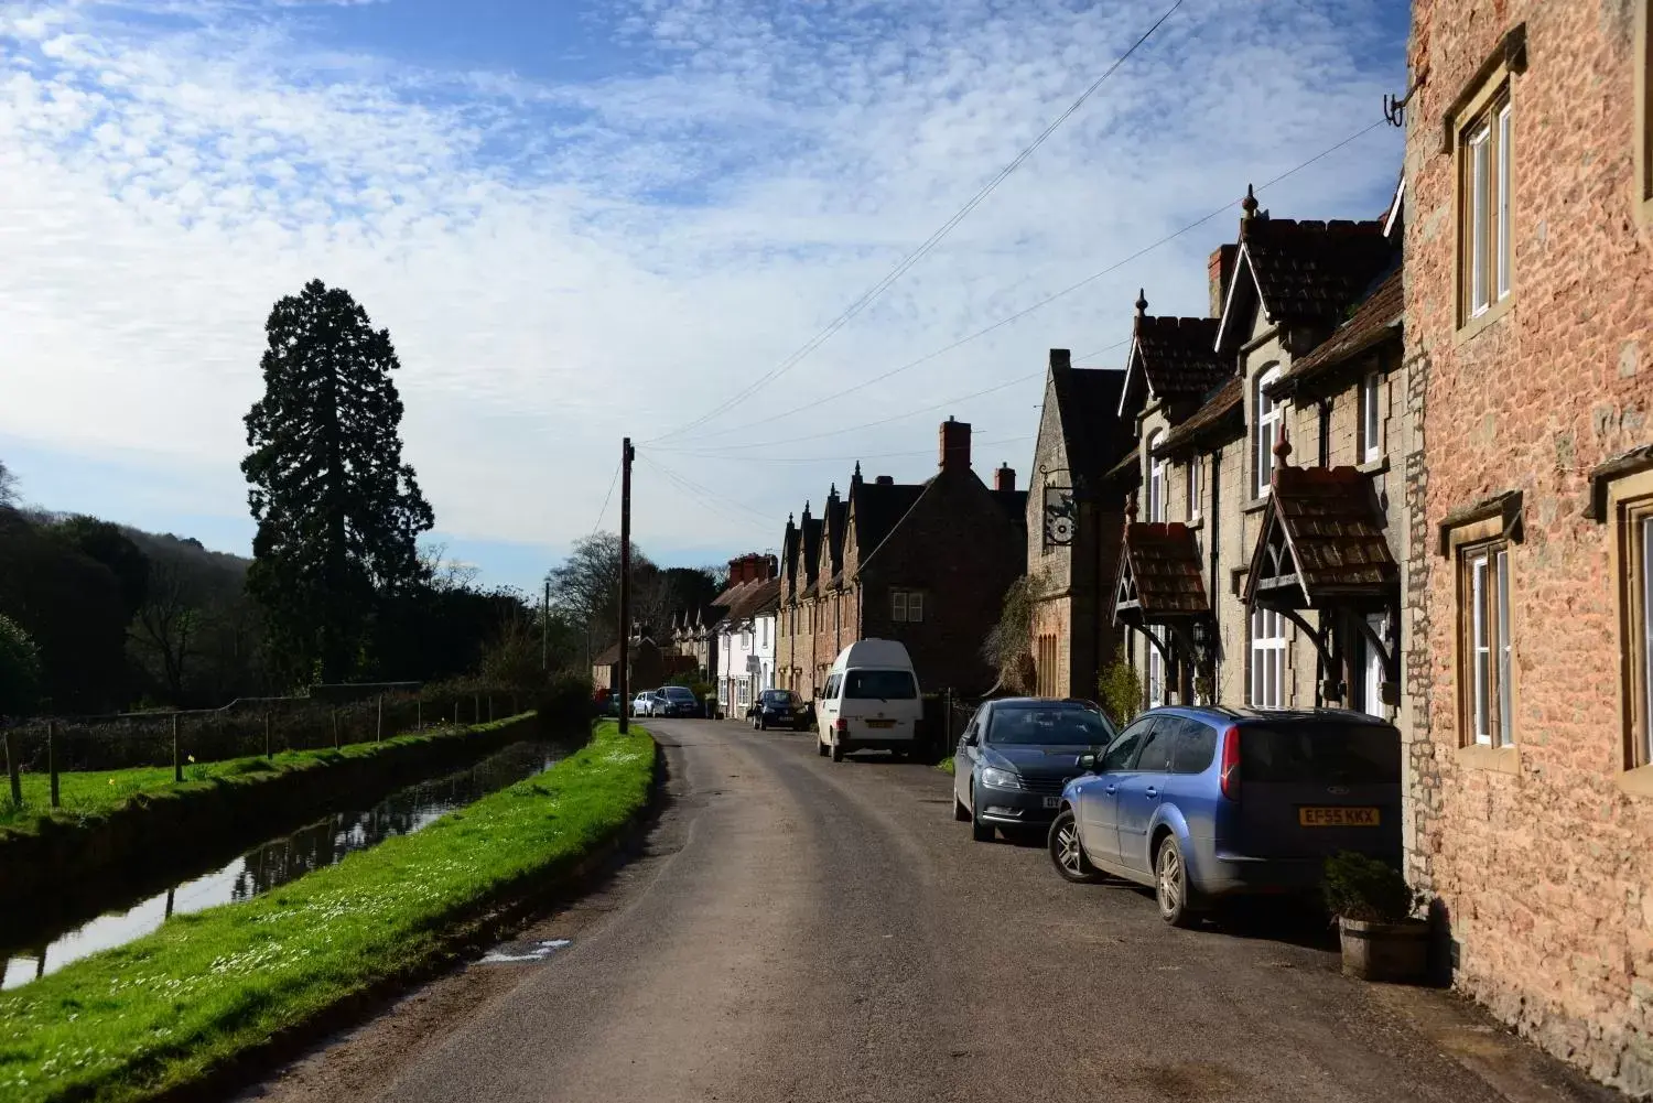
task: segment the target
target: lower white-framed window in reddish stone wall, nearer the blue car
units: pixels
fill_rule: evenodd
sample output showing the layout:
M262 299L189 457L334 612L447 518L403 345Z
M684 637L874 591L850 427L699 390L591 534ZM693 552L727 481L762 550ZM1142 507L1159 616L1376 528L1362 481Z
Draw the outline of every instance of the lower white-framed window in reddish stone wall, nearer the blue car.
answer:
M1514 744L1509 643L1509 549L1503 541L1460 552L1460 617L1463 622L1465 731L1473 742Z

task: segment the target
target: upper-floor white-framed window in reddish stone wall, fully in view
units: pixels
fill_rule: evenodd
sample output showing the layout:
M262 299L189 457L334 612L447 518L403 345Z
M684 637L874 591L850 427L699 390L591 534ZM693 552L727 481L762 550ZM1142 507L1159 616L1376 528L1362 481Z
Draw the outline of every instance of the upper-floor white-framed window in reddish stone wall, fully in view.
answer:
M1484 314L1511 291L1512 152L1506 83L1458 132L1461 322Z

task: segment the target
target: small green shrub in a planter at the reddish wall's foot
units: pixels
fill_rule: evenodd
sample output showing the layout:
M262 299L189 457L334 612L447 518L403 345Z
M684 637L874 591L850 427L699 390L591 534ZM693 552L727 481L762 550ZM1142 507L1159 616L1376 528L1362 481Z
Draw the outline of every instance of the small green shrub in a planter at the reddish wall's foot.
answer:
M1412 891L1400 870L1344 850L1326 860L1322 890L1337 916L1347 976L1393 984L1423 981L1430 924L1412 916L1423 896Z

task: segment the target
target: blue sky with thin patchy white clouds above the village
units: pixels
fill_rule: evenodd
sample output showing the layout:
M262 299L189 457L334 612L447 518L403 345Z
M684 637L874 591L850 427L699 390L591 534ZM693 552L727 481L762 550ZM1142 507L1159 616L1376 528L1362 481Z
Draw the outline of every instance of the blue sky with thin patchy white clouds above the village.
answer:
M484 584L618 528L626 435L669 564L774 551L858 458L927 478L949 415L1025 486L1048 349L1122 367L1139 288L1205 314L1246 184L1362 131L1263 207L1398 177L1405 3L1184 0L815 341L1170 2L3 0L0 460L245 554L263 322L319 278L390 331L428 539Z

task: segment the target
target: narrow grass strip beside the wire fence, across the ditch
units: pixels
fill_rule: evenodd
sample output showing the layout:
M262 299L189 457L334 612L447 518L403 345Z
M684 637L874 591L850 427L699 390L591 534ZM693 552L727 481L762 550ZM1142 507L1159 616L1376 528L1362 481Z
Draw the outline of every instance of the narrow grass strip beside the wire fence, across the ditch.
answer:
M526 716L526 713L524 713ZM122 771L86 771L58 774L58 797L63 807L51 807L51 779L46 774L21 776L23 805L12 804L10 790L0 779L0 845L12 833L31 833L56 819L78 822L93 815L106 815L127 804L150 800L159 794L187 794L208 785L240 785L269 781L278 774L299 769L316 769L345 759L383 754L388 747L410 742L453 739L471 733L491 731L522 719L509 716L488 724L464 728L433 728L418 734L395 736L382 742L350 742L342 747L319 751L283 751L273 759L264 756L225 759L222 762L185 762L183 782L172 781L172 767L139 767Z

